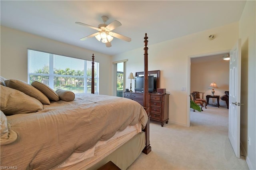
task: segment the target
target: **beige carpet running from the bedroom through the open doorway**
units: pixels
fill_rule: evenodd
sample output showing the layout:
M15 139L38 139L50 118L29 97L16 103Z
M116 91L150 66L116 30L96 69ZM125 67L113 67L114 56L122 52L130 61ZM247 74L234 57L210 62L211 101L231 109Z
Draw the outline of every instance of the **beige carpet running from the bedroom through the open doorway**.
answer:
M236 158L228 139L228 109L208 106L190 111L190 127L150 123L152 151L140 154L128 170L247 170L244 156Z

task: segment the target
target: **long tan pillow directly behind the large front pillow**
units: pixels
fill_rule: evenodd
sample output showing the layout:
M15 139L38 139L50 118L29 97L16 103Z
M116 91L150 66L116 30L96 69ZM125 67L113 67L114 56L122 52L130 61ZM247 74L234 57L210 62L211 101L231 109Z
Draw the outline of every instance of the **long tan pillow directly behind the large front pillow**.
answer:
M44 105L50 105L50 101L46 97L46 95L44 95L44 93L42 93L41 91L39 91L32 85L30 85L24 81L17 80L17 79L10 79L10 80L6 80L4 82L7 87L16 89L18 91L25 93L26 95L34 97L34 98L38 99Z

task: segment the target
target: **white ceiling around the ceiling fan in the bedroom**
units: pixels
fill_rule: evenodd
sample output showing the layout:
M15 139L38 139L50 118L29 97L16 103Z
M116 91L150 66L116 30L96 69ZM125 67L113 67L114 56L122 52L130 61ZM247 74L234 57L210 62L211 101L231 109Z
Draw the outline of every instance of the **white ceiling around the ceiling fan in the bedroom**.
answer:
M240 19L244 0L178 1L5 1L1 0L1 25L64 42L92 51L115 55L148 45L223 26ZM122 26L113 30L130 37L131 42L114 38L107 48L96 38L80 38L96 30L75 24L98 27L101 16L106 24L114 20Z

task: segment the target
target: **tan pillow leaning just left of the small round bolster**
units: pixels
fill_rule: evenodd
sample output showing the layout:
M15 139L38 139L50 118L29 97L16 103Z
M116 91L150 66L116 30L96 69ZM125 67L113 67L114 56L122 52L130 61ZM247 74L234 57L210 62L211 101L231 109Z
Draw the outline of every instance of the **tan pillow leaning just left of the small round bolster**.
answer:
M33 87L36 87L36 89L38 89L42 93L44 93L48 97L48 99L50 99L51 101L60 100L60 97L58 96L58 94L55 91L53 91L50 87L45 85L44 83L41 83L39 81L34 81L33 83L31 83L31 85Z

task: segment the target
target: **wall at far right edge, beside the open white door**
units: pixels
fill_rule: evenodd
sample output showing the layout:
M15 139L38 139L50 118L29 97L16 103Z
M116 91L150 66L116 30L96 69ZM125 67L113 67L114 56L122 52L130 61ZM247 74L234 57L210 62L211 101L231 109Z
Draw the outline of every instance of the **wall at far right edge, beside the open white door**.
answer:
M247 1L239 21L242 46L240 139L246 162L256 169L256 1ZM250 144L248 144L250 137Z

